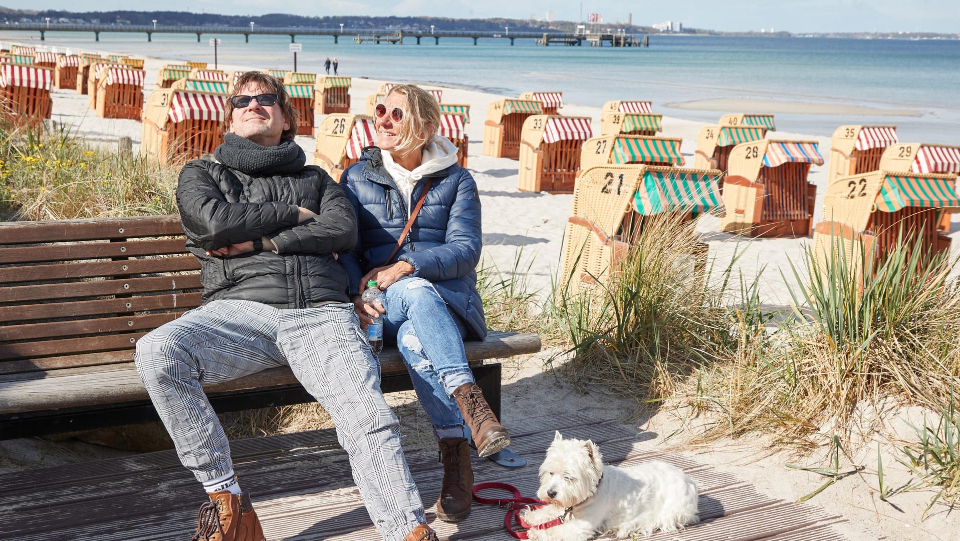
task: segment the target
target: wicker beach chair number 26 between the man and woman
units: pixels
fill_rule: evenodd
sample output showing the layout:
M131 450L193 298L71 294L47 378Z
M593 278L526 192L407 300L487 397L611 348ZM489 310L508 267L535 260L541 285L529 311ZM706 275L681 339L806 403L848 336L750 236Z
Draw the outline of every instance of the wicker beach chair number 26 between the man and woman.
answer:
M373 119L366 115L327 115L317 129L314 165L319 165L337 182L344 170L360 161L364 147L376 145Z

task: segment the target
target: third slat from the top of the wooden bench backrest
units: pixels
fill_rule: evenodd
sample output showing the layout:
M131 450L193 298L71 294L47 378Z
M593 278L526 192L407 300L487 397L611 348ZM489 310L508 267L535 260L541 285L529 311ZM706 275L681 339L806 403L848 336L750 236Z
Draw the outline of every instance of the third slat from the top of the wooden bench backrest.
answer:
M176 272L179 270L200 270L200 262L191 254L122 261L0 267L0 284L129 276L145 272Z

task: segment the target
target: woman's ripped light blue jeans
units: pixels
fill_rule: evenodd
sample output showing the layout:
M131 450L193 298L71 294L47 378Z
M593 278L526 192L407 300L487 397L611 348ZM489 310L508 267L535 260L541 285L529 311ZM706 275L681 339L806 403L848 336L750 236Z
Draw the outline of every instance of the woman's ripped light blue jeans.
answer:
M383 338L396 341L434 431L449 434L451 429L463 429L464 418L452 395L458 387L474 383L464 353L467 328L423 278L402 278L383 296L387 309Z

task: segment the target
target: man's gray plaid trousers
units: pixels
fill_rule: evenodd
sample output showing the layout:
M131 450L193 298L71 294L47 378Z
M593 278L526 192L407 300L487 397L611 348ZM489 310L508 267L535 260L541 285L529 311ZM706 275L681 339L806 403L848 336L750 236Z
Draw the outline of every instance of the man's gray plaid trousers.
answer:
M380 366L352 304L280 310L216 300L141 339L135 363L180 461L198 481L233 469L227 435L201 384L289 365L332 417L353 480L383 537L401 541L426 523L400 449L399 423L380 391Z

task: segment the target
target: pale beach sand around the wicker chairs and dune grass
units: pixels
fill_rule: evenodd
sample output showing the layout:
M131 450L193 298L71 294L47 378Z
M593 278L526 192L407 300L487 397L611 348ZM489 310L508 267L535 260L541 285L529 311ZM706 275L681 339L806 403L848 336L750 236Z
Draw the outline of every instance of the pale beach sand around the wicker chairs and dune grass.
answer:
M106 51L105 51L106 52ZM155 86L157 70L167 60L148 58L145 62L147 80L145 91L149 93ZM221 69L252 69L262 66L225 65ZM373 77L375 74L368 74ZM412 78L416 79L416 78ZM383 82L377 79L353 77L350 89L352 112L363 113L366 97L376 91ZM570 214L572 195L550 195L545 193L519 192L517 190L517 161L506 158L493 158L481 153L483 123L487 106L501 96L456 86L424 85L426 88L442 88L443 102L448 104L468 104L471 122L467 126L469 137L468 169L475 177L483 202L484 253L483 265L509 272L519 260L523 279L527 280L531 290L539 291L543 297L550 294L551 284L561 266L564 225ZM609 96L617 100L618 96ZM671 105L678 108L715 110L723 112L788 112L792 114L833 114L836 125L857 124L857 115L899 115L909 116L917 111L910 109L881 110L873 107L828 106L794 103L774 100L716 99L708 102ZM564 115L587 116L592 119L594 134L600 133L600 108L565 104L561 109ZM655 110L665 113L668 111ZM719 117L721 112L717 112ZM107 120L96 118L95 111L87 108L87 97L72 90L54 90L53 120L64 127L70 127L88 141L104 146L116 143L119 137L129 136L133 141L134 153L142 139L142 126L132 120ZM321 118L317 119L320 125ZM893 121L892 121L893 122ZM686 167L693 166L698 130L704 125L669 116L662 119L663 131L660 135L682 137L682 152ZM817 141L820 153L828 159L830 141L828 137L809 136L790 131L788 125L778 126L778 130L768 134L768 138L801 139ZM315 140L300 136L297 142L308 156L314 151ZM824 166L814 166L809 180L818 187L817 214L814 223L820 222L821 201L827 185L828 170ZM956 237L958 226L950 228L950 236ZM738 253L734 269L751 279L760 272L763 275L763 301L771 306L785 306L790 302L788 280L792 276L790 263L801 261L804 248L810 239L738 239L731 234L719 232L719 220L705 217L698 223L698 231L709 245L709 256L714 258L717 268L725 267ZM954 250L960 249L954 243ZM817 489L825 478L816 473L792 469L786 463L824 466L827 464L828 435L822 437L824 443L821 453L812 456L796 457L780 453L781 447L769 438L761 436L743 437L737 440L724 440L702 445L695 443L694 435L711 419L698 417L685 410L661 407L652 416L642 416L628 420L635 412L634 404L612 396L603 388L590 388L585 394L582 390L563 378L535 378L547 370L545 361L556 351L544 351L528 359L510 360L504 372L504 415L509 425L511 417L521 415L531 409L542 409L549 405L553 409L581 409L597 417L613 419L631 428L655 435L645 444L651 449L668 450L732 472L737 478L752 482L761 492L787 501L795 501ZM553 365L562 364L563 358L553 361ZM550 383L545 383L550 382ZM410 402L410 395L392 398L397 403ZM877 444L883 452L885 483L900 487L913 479L905 466L895 459L892 441L899 438L910 440L913 433L907 421L922 422L923 412L915 408L901 408L894 404L877 404L870 410L861 412L862 441L857 449L849 450L851 458L842 458L841 469L852 470L854 465L863 465L858 474L845 477L809 500L815 506L822 506L830 513L847 519L835 529L852 541L877 539L924 539L927 541L949 541L960 539L960 520L950 513L946 506L933 506L926 514L924 508L933 492L928 490L905 491L895 494L890 502L882 502L876 491ZM420 414L420 422L425 416ZM544 435L544 445L549 441ZM421 444L428 445L424 439ZM84 444L74 440L46 442L38 439L0 441L0 472L23 468L57 465L71 461L105 458L120 454L100 446ZM846 468L846 470L845 470ZM187 473L184 470L184 475ZM478 480L494 481L494 480ZM506 534L502 535L506 539Z

